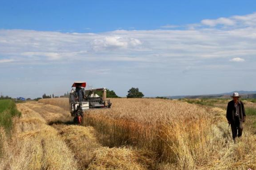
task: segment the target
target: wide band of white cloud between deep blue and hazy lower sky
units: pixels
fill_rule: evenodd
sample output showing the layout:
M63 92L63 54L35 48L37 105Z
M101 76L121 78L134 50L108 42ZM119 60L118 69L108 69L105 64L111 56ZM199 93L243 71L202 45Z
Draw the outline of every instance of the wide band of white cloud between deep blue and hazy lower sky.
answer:
M246 60L256 53L256 28L240 28L256 19L256 13L189 24L189 29L116 30L101 33L61 33L32 30L0 30L0 56L8 63L124 61L168 65L236 56ZM229 29L214 27L219 24ZM173 27L173 25L166 25ZM2 61L2 62L7 62ZM148 64L147 64L148 65ZM193 66L194 68L194 66Z

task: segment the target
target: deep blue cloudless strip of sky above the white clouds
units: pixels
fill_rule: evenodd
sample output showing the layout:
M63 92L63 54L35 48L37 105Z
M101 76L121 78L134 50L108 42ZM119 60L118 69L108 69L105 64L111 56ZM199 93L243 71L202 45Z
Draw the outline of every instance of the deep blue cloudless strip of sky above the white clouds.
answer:
M253 0L1 0L0 28L60 32L148 30L255 12Z

